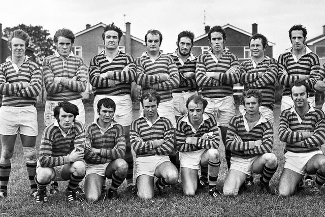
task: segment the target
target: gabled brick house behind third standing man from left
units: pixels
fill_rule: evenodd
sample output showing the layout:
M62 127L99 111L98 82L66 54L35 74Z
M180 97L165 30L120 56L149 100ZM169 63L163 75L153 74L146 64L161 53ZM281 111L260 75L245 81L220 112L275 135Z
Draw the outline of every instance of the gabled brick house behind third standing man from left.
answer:
M119 49L133 55L137 58L146 50L145 41L131 35L131 23L126 22L126 31L119 43ZM86 28L76 33L76 40L73 45L73 51L76 55L81 56L87 66L89 66L91 58L105 49L102 34L106 24L100 22L91 26L86 24Z

